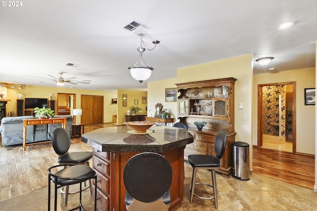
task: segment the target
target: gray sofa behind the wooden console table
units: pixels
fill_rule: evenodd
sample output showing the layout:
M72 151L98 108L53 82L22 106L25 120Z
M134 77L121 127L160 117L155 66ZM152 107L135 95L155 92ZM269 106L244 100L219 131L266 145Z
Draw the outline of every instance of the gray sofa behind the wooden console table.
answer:
M71 136L71 128L73 116L71 115L55 115L54 118L67 119L66 130ZM23 143L23 120L35 119L34 116L22 117L3 117L1 120L1 139L3 146L10 146ZM55 128L62 127L61 124L35 125L26 128L26 143L35 143L41 141L52 140L52 133Z

